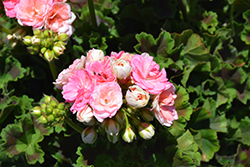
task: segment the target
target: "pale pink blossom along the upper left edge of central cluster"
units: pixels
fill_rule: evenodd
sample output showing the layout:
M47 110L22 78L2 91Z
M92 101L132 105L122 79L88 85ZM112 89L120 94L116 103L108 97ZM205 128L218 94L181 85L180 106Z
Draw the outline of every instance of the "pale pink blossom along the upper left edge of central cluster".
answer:
M53 84L56 85L57 89L62 89L63 85L68 83L69 77L76 71L83 69L85 67L85 56L82 56L81 59L76 59L73 64L69 66L69 68L64 69L57 77L56 82Z

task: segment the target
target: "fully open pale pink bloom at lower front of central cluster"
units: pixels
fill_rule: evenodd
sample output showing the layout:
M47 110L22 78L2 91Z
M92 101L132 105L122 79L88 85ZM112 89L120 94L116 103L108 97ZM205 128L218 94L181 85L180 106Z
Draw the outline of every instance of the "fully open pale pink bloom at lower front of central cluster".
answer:
M113 117L122 106L122 92L117 82L104 82L95 87L90 105L99 122Z

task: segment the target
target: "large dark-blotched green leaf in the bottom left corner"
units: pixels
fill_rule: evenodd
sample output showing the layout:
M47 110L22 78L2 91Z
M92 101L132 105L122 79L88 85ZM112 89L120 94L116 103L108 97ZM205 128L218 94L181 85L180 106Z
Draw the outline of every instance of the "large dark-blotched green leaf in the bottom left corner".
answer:
M9 157L25 153L29 164L44 162L44 152L38 143L43 140L43 135L49 135L53 129L46 129L43 125L32 120L30 116L23 117L17 124L7 125L1 132L3 145L2 151Z

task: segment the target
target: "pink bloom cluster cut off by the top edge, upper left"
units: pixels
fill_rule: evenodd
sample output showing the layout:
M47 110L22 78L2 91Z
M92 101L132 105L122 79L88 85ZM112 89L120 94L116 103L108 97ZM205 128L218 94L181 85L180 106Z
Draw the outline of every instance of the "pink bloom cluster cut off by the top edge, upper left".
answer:
M52 29L57 33L73 33L76 16L66 0L4 0L6 15L22 26Z

